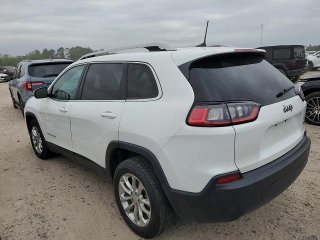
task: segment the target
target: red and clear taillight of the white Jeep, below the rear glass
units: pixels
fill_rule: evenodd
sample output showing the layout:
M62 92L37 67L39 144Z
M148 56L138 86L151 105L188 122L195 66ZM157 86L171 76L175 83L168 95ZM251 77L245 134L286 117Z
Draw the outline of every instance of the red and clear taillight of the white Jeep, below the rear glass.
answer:
M254 121L260 105L254 102L236 102L217 105L197 105L186 120L192 126L227 126Z

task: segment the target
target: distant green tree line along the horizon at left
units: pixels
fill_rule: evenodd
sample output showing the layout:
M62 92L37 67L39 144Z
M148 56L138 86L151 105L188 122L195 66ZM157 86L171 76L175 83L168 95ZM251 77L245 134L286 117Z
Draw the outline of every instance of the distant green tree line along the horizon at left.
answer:
M95 50L94 50L95 51ZM93 52L90 47L74 46L74 47L59 47L58 49L47 49L44 48L41 51L35 49L22 56L11 56L9 54L0 54L0 66L16 66L16 64L23 60L37 60L37 59L48 59L48 58L69 58L74 61L79 59L80 56Z

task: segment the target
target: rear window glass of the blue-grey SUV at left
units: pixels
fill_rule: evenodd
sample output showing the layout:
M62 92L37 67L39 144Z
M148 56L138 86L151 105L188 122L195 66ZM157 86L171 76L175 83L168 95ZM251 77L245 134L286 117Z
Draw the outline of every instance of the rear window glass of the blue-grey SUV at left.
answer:
M30 76L33 77L54 77L71 63L36 64L28 67Z

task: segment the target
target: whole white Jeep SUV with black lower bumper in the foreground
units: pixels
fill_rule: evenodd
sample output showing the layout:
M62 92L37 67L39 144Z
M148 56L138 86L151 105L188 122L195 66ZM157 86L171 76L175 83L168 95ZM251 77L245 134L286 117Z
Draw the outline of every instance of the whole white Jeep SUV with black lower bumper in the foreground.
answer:
M143 237L173 211L234 220L300 174L304 96L264 50L140 47L149 51L84 55L34 91L24 113L38 157L62 153L112 179L123 219Z

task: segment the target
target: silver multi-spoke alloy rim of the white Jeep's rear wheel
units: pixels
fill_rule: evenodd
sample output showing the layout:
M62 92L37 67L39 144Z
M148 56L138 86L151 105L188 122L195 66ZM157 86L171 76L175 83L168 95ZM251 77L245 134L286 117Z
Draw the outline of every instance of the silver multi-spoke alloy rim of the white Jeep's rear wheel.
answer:
M118 183L119 197L124 212L137 226L146 226L151 218L151 205L141 181L126 173Z

